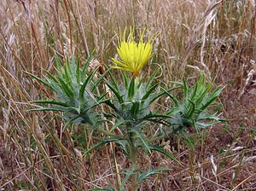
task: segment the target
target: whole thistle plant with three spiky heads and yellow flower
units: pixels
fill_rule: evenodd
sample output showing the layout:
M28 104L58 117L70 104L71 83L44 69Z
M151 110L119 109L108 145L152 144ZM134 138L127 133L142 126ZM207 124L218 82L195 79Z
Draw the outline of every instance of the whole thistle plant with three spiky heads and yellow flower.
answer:
M114 78L112 69L93 82L96 70L87 72L91 56L82 68L80 62L74 59L71 61L67 59L66 64L62 66L56 58L56 76L45 71L47 75L43 79L30 73L32 78L36 78L54 92L54 99L32 101L49 105L32 109L33 111L59 111L62 112L61 117L67 120L67 124L90 124L94 130L101 132L94 136L98 142L85 153L90 153L91 150L108 142L115 142L121 148L130 160L131 168L123 171L125 178L115 189L119 191L124 190L130 178L131 190L135 191L148 176L166 170L140 171L137 153L143 151L147 154L156 151L179 163L172 154L154 143L172 134L184 136L187 127L194 127L199 131L223 120L218 118L217 113L212 114L208 109L215 104L222 89L218 87L212 90L212 84L207 84L203 76L195 86L189 87L183 79L183 83L177 83L169 90L161 87L160 83L154 82L158 70L155 70L146 82L143 81L141 70L150 60L153 43L152 38L148 38L148 42L145 43L143 35L144 31L140 31L137 43L134 40L134 32L130 29L127 37L124 32L119 38L117 48L119 59L112 58L112 68L121 71L120 84ZM104 91L100 92L99 96L94 94L101 82L108 86L110 96ZM172 96L172 91L177 89L183 91L182 99ZM172 106L169 106L167 111L154 110L152 106L162 96L169 96L173 102ZM97 106L102 104L108 106L109 109L106 110L108 112L96 114L100 111ZM105 119L113 121L111 128L104 128L102 121ZM157 128L160 128L160 124L164 124L165 128L160 130L162 133L150 135L148 127L151 128L153 124L156 124ZM110 186L109 189L104 190L114 190L114 188Z

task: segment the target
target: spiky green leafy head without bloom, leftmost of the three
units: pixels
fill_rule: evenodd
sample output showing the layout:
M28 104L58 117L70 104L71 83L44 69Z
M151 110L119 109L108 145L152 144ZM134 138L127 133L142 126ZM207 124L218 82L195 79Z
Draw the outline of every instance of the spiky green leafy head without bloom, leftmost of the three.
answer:
M61 117L67 120L67 124L73 122L95 125L97 122L95 107L102 98L97 98L92 93L100 79L92 83L96 70L87 74L91 59L92 55L82 68L80 68L79 60L67 59L62 67L61 61L55 56L56 75L45 71L47 75L43 79L29 73L32 78L37 79L54 92L53 99L32 101L32 103L47 104L47 106L31 109L31 111L59 111L62 112Z

